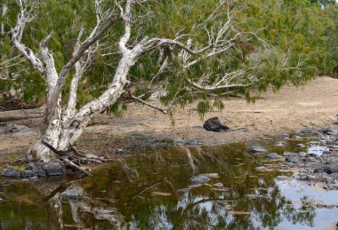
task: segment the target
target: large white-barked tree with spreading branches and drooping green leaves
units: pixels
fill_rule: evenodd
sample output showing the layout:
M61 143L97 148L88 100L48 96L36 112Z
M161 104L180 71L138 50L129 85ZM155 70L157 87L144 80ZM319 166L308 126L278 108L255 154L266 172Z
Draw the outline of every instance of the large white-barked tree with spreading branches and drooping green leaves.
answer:
M262 3L253 2L69 0L63 3L69 8L55 10L58 1L17 0L11 42L18 59L27 60L46 87L43 127L33 158L48 162L54 152L74 166L79 157L69 150L84 128L95 115L117 106L124 94L164 113L197 97L203 112L222 107L221 97L230 93L250 99L250 89L309 79L314 68L309 59L301 59L303 47L287 49L278 39L263 39L267 27L261 18L270 9L255 12ZM35 20L44 28L34 25ZM67 29L46 31L58 20ZM109 76L101 81L102 69ZM132 91L135 83L141 86ZM85 89L95 92L82 100ZM164 107L146 101L155 91L165 91Z

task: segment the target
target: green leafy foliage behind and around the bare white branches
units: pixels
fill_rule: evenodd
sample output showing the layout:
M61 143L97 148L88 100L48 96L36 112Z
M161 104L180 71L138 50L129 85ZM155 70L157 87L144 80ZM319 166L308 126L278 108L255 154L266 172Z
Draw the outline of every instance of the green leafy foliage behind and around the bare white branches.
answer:
M3 2L9 11L4 17L0 15L0 20L4 22L4 30L8 33L15 25L19 8L15 1ZM187 43L188 39L191 39L197 42L196 48L200 48L207 44L208 34L205 28L217 27L227 20L227 15L221 14L225 8L221 8L216 13L222 16L205 23L205 28L198 28L218 3L218 0L159 0L150 1L143 7L134 7L133 20L136 23L133 25L130 44L140 41L144 36L175 38L178 35L189 34L189 37L182 36L181 41ZM107 7L112 4L113 1L107 0ZM39 7L34 9L38 17L27 25L22 42L37 52L38 44L44 36L54 31L49 48L53 53L57 70L60 71L72 55L79 28L84 26L84 36L87 36L93 28L96 20L94 4L93 1L86 0L45 0L39 1L38 5ZM334 4L334 1L235 0L230 7L235 15L231 25L238 31L254 32L255 36L248 35L247 41L234 40L229 52L205 59L199 65L190 67L188 71L183 71L179 62L169 59L169 67L157 75L159 52L154 50L139 59L130 71L130 80L142 85L137 88L135 94L145 94L142 99L147 99L149 89L153 85L159 85L166 91L166 95L161 98L165 105L174 100L184 107L197 99L202 99L197 103L197 108L203 115L213 107L223 108L221 99L224 93L227 94L229 91L215 91L212 103L209 102L207 93L192 90L185 81L186 78L197 81L201 75L213 73L209 75L205 84L214 84L221 75L245 69L245 77L240 81L250 83L252 75L257 81L250 89L238 88L231 93L242 94L248 101L254 102L251 90L265 91L270 86L278 90L287 82L299 85L316 74L332 74L334 67L337 66L338 5ZM139 17L140 14L143 16ZM123 32L123 21L116 20L102 39L101 43L107 45L100 47L93 66L80 81L77 107L99 97L111 82L120 59L117 41ZM1 63L16 56L18 52L12 49L8 36L0 36ZM262 43L262 40L265 43ZM102 56L103 52L117 54ZM173 47L173 55L177 56L179 52L177 47ZM20 76L16 81L0 80L1 90L15 89L20 92L19 96L28 101L36 102L44 99L44 79L32 70L27 62L9 67L8 71L9 75ZM157 77L153 79L154 75ZM239 80L235 79L233 83L239 83ZM64 99L67 99L69 84L70 81L63 92ZM149 88L144 85L149 85ZM111 109L120 115L120 111L125 107L117 104Z

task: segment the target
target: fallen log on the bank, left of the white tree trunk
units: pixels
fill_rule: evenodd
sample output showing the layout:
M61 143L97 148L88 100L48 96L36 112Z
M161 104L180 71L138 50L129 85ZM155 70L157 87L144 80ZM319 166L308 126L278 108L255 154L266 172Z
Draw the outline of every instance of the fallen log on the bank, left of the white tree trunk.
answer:
M19 109L0 112L0 122L9 122L29 118L43 117L45 107Z

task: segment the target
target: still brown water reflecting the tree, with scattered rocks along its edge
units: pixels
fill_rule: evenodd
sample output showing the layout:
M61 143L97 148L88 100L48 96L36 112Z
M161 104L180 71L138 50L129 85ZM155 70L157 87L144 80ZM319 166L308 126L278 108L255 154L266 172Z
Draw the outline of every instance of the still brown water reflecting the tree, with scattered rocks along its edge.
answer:
M306 143L277 140L258 144L282 155ZM276 162L248 153L254 144L145 145L92 178L3 179L0 228L326 229L338 221L338 192L261 171Z

